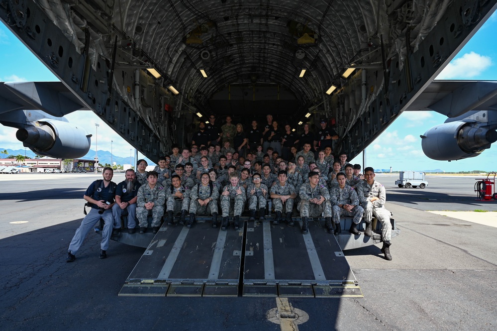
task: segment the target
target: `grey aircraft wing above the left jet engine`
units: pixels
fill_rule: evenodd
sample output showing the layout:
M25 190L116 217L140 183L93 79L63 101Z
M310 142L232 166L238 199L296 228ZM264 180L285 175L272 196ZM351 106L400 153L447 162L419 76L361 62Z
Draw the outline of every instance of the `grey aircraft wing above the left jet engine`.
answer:
M62 82L0 82L0 114L11 110L43 110L62 117L90 108Z

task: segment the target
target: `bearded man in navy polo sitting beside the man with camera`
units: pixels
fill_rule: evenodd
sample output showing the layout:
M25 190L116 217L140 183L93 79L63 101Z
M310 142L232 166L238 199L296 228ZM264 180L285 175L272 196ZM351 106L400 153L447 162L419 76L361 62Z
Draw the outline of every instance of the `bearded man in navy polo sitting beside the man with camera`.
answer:
M127 216L128 233L135 233L136 226L136 195L140 188L140 183L135 179L135 171L128 169L124 173L126 179L117 184L115 191L115 204L112 207L114 216L113 231L121 230L121 217Z

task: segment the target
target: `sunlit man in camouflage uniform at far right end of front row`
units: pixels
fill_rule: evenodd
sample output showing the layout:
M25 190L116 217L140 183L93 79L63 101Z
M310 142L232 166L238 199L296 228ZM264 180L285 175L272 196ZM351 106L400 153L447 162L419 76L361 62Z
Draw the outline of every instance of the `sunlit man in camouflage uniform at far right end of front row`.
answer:
M392 237L390 215L392 213L385 208L387 193L385 187L375 180L375 170L372 167L364 169L364 177L366 178L362 183L364 200L361 204L364 208L364 221L366 221L364 234L371 236L371 222L374 215L382 223L382 253L385 254L385 259L390 261L392 260L392 255L390 254L390 239Z

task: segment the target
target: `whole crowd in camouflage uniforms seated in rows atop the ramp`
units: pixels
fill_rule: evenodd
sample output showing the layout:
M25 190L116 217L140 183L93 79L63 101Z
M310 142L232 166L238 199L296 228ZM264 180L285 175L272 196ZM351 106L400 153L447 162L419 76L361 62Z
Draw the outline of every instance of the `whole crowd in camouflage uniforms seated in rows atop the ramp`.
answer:
M230 121L227 124L232 125ZM257 122L252 125L255 129ZM336 133L326 130L325 126L322 122L319 132L322 141L317 141L316 146L314 140L315 153L311 151L310 140L304 137L310 132L304 131L302 149L297 152L295 146L290 147L289 159L280 157L271 145L263 151L262 138L261 144L251 143L257 149L246 155L241 155L240 148L232 148L229 139L222 141L221 147L221 137L232 138L232 132L223 129L224 133L218 138L205 134L207 146L204 143L198 146L194 141L192 148L185 147L180 154L180 148L173 145L173 153L161 157L153 171L145 171L147 162L138 160L136 172L128 169L125 172L126 180L117 185L115 203L110 204L110 207L104 206L105 212L107 209L112 210L113 231L120 231L123 213L128 214L129 233L135 231L134 222L138 223L139 232L145 233L149 216L152 217L154 233L159 230L162 220L173 225L176 215L180 215L179 223L188 227L194 224L196 215L208 215L212 217L212 227L215 228L219 225L219 213L222 230L230 226L231 214L233 226L238 230L241 227L240 216L245 208L250 214L249 220L258 218L264 221L268 202L271 202L276 214L274 224L286 222L288 226L294 226L292 215L296 206L302 220L303 234L308 232L309 218L324 216L325 227L332 234L341 233L341 217L351 217L351 233L359 235L357 225L364 220L364 234L371 236L372 218L375 216L382 223L382 252L386 259L391 260L391 213L384 207L385 188L374 180L373 168L366 168L363 176L359 165L346 162L346 154L340 154L340 160L334 161L330 145ZM238 125L234 127L240 132ZM290 130L289 127L286 129ZM197 153L199 147L200 152ZM90 200L87 199L89 202L95 201ZM96 207L101 205L98 200L94 204ZM85 220L82 226L83 223ZM108 241L109 236L104 236L105 240ZM81 235L77 239L83 240ZM107 246L108 243L102 244L102 247ZM74 260L75 250L71 246L69 254L68 262L71 256Z

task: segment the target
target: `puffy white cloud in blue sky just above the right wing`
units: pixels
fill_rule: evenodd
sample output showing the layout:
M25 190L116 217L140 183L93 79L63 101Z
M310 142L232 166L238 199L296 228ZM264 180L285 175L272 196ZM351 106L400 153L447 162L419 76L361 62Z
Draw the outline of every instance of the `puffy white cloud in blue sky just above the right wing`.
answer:
M480 75L492 66L489 56L470 52L452 60L436 79L469 79Z

